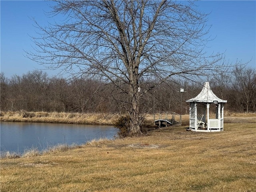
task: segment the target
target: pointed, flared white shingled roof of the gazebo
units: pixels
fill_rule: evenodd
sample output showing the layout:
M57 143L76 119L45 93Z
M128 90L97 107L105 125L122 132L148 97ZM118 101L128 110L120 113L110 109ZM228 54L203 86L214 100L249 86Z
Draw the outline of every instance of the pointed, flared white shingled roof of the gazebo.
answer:
M196 96L195 98L186 100L186 102L205 102L205 103L213 103L214 101L217 101L219 103L226 103L227 100L222 100L218 98L211 90L209 82L204 83L204 87L200 94Z

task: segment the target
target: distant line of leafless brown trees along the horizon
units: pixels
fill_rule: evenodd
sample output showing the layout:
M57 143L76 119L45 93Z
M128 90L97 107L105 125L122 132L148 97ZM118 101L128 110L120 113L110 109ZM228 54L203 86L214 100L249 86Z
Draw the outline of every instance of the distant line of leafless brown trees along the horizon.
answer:
M214 76L209 82L216 96L228 100L225 110L256 112L255 68L236 67L232 73ZM110 82L76 77L66 80L33 70L11 78L1 73L0 83L2 111L126 112L127 93L118 92L118 88ZM143 96L140 107L143 112L149 113L154 110L180 113L182 110L182 114L188 114L186 100L199 94L203 84L181 80L164 82ZM179 92L180 88L186 92Z

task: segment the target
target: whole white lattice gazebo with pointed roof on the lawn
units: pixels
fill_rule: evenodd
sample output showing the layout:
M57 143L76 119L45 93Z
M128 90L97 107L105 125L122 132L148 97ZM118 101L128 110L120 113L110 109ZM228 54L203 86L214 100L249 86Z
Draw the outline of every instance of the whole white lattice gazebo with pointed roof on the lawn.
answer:
M198 132L223 131L224 104L227 100L218 98L211 90L209 82L204 83L200 94L186 100L190 103L189 129ZM214 107L214 118L210 118L209 109Z

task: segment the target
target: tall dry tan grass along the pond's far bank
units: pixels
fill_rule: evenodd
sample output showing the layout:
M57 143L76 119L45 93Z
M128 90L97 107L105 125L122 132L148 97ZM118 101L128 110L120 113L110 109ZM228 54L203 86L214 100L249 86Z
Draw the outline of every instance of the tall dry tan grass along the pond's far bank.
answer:
M114 125L119 114L64 112L1 112L1 121Z

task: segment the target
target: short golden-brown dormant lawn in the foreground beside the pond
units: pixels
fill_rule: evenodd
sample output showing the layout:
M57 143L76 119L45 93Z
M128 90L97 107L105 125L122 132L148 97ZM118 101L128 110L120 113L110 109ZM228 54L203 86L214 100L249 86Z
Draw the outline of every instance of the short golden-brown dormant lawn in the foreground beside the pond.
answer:
M224 132L212 133L186 128L2 159L1 191L256 191L254 123L226 123Z

